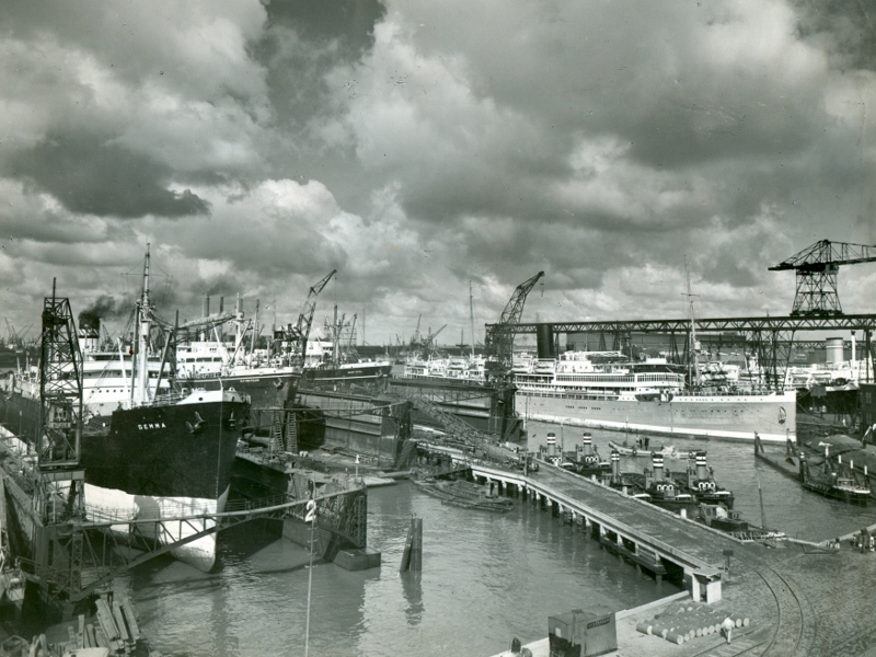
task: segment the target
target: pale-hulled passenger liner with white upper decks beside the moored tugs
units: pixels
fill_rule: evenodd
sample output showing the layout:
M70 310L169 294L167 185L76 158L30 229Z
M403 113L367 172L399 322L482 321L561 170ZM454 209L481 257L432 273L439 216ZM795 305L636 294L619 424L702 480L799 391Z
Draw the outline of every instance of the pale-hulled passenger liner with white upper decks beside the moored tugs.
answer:
M782 441L796 437L796 393L734 381L688 387L665 359L567 351L515 373L517 412L529 419L693 437Z

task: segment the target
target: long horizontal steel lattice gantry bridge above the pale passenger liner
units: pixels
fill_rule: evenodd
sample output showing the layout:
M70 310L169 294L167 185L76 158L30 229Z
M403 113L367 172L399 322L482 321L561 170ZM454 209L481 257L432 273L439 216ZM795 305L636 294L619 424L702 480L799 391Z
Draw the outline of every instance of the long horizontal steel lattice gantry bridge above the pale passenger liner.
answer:
M862 356L867 355L866 381L874 380L873 333L876 314L835 316L765 316L765 318L690 318L676 320L623 320L612 322L539 322L518 324L487 324L487 335L494 339L512 339L515 335L535 334L542 343L553 344L561 333L586 333L595 336L599 348L620 350L631 343L633 334L655 333L669 337L670 354L677 362L685 362L692 348L691 331L703 343L718 346L738 345L757 356L762 370L762 383L770 390L782 390L783 372L791 361L794 337L797 333L815 331L861 332ZM678 345L681 345L679 348ZM807 342L807 346L814 343Z

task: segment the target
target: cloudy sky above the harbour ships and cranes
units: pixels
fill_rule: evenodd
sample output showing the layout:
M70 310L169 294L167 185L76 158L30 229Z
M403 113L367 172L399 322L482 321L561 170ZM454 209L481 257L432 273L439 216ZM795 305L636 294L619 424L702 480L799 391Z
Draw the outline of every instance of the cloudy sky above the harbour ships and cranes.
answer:
M873 0L5 0L0 314L333 302L370 344L787 314L766 268L876 244ZM840 273L875 312L876 263ZM0 325L5 332L5 326ZM483 335L479 336L481 339Z

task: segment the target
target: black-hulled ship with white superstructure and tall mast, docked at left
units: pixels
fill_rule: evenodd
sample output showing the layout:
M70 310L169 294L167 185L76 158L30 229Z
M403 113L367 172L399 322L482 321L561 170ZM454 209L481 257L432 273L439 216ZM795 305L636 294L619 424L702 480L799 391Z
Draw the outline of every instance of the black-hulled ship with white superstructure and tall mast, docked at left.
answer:
M85 471L85 509L101 519L160 518L222 511L241 430L250 403L229 389L174 389L163 358L149 358L153 321L149 295L149 251L137 302L132 348L91 353L82 361L83 428L80 464ZM88 338L88 332L84 337ZM89 350L87 349L87 354ZM34 445L41 424L38 370L4 380L0 418ZM208 528L211 520L206 520ZM177 523L157 540L176 541L195 529ZM216 534L172 551L181 561L209 570Z

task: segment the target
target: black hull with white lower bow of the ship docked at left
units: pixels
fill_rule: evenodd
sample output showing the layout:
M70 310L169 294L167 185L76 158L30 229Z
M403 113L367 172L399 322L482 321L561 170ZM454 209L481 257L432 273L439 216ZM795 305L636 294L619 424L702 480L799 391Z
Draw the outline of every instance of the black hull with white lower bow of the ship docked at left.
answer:
M238 439L249 424L239 394L201 391L192 403L153 404L92 417L83 427L80 463L85 471L87 512L96 520L184 517L219 512L231 483ZM221 401L211 401L211 400ZM34 445L37 400L0 395L0 418L21 440ZM205 527L212 523L206 520ZM155 540L180 540L189 527L155 528ZM175 532L175 533L174 533ZM209 570L216 534L172 550L180 561Z

